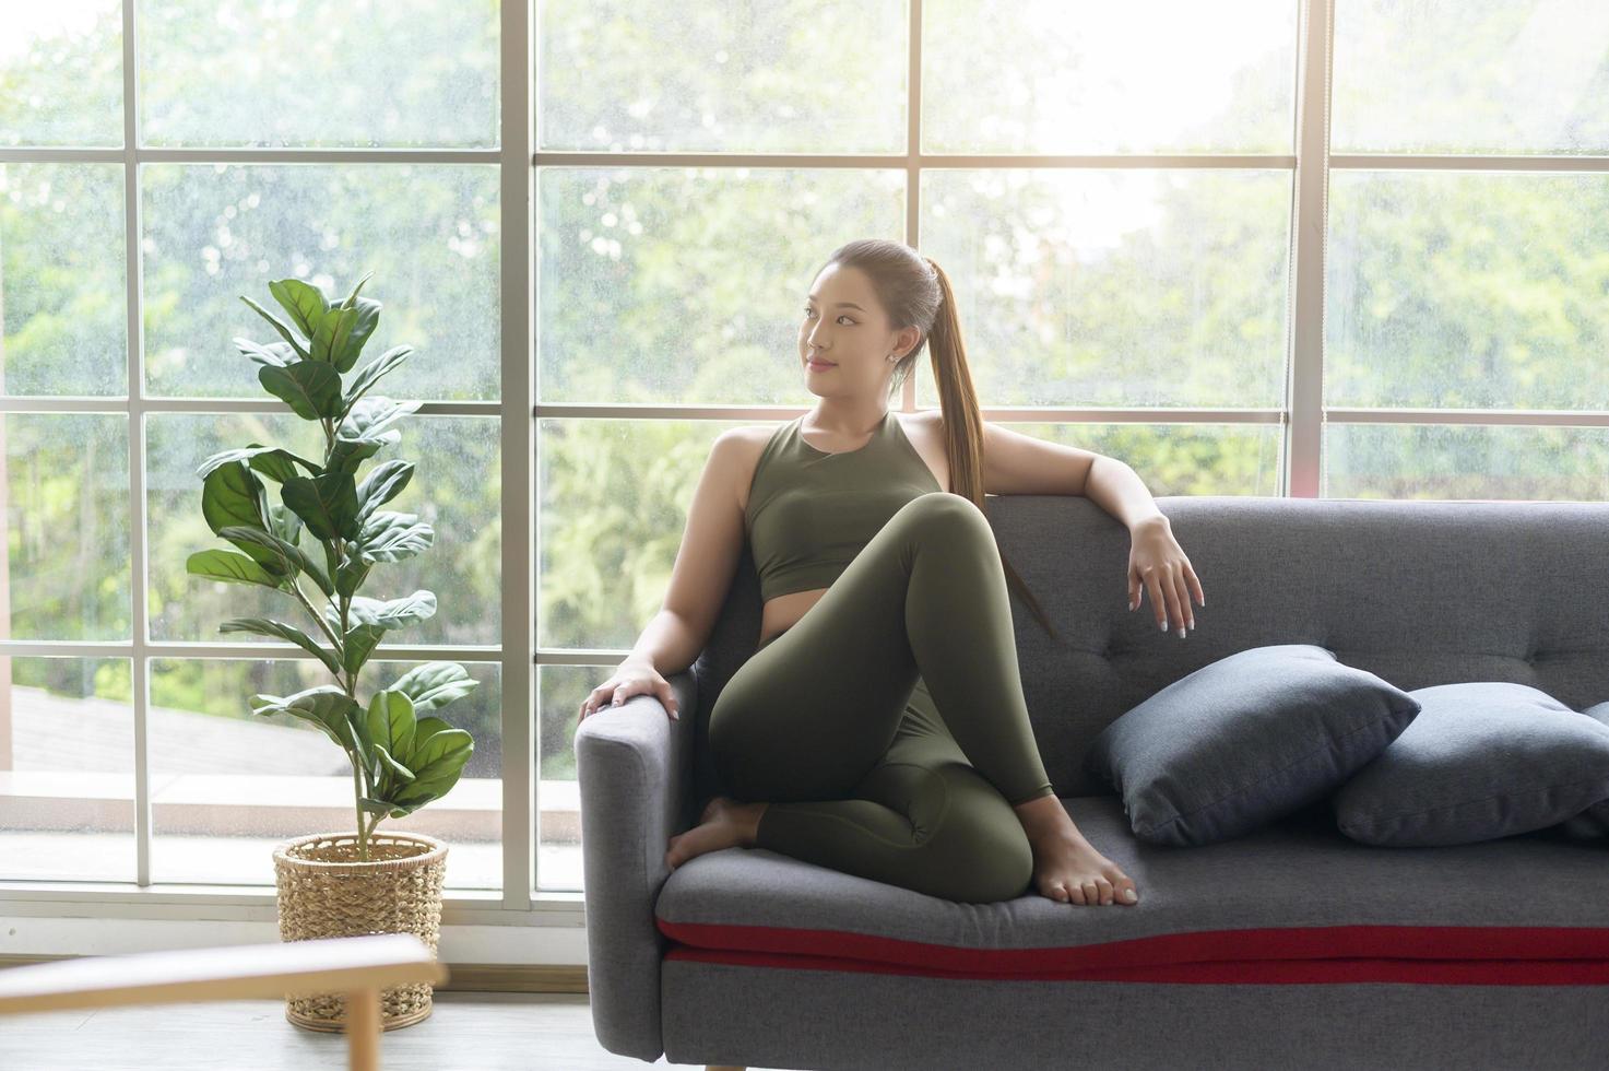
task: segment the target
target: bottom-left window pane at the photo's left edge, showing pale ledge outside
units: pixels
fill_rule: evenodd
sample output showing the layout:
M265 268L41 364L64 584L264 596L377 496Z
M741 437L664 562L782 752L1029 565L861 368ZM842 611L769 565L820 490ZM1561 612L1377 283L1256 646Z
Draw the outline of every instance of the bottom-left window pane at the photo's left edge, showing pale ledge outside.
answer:
M0 655L0 879L134 881L129 659Z

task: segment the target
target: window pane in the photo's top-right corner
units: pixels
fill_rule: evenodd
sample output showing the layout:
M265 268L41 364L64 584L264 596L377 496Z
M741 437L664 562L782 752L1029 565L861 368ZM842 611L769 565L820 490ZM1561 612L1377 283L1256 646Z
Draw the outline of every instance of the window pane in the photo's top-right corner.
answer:
M1335 6L1334 153L1609 150L1601 0Z

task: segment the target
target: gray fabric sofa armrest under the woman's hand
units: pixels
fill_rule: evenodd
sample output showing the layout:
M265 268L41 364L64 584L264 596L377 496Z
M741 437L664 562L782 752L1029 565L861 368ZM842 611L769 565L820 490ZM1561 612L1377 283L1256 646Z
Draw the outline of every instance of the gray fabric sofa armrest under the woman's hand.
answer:
M669 839L687 828L693 804L698 723L692 672L666 680L681 720L658 696L642 694L576 728L592 1028L610 1052L647 1061L665 1052L660 961L668 942L653 904L669 876Z

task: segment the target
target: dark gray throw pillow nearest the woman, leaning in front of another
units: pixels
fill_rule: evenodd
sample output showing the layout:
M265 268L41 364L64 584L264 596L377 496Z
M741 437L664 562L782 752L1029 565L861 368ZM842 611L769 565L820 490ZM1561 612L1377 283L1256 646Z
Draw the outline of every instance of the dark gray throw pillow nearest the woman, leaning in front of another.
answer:
M1252 647L1204 665L1096 736L1134 836L1212 844L1321 800L1419 713L1408 693L1313 644Z

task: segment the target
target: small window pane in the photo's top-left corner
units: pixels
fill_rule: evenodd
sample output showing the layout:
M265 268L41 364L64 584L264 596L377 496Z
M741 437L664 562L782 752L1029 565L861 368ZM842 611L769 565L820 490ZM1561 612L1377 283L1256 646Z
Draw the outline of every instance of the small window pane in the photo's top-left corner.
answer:
M0 145L122 145L122 2L5 5Z

